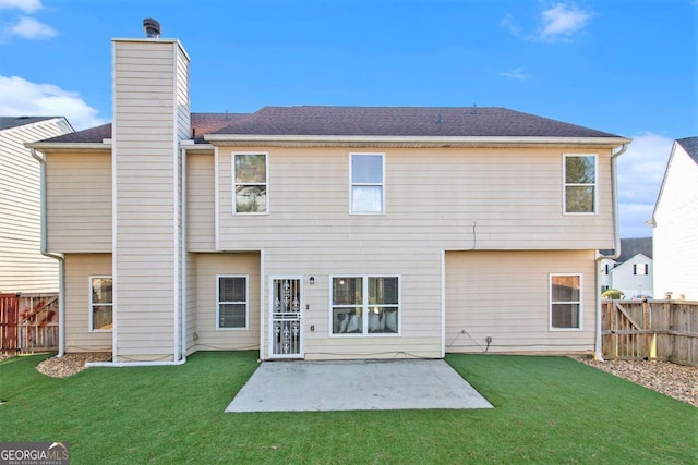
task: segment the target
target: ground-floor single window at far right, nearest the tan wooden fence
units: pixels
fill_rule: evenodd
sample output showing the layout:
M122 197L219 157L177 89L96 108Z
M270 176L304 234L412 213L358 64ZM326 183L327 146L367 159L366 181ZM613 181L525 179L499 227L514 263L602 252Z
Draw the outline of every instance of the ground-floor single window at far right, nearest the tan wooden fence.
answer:
M551 329L581 329L581 274L550 276Z

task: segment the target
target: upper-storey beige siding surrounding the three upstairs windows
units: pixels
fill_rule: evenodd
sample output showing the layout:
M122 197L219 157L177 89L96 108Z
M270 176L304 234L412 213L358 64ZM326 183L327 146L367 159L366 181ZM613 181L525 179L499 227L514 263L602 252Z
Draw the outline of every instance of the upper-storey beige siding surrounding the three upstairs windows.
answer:
M318 249L337 241L406 250L613 245L607 151L599 152L599 212L583 216L563 215L563 154L571 149L362 149L385 152L385 215L377 216L349 215L356 150L335 148L268 149L269 215L232 215L233 151L218 150L222 249L289 241Z

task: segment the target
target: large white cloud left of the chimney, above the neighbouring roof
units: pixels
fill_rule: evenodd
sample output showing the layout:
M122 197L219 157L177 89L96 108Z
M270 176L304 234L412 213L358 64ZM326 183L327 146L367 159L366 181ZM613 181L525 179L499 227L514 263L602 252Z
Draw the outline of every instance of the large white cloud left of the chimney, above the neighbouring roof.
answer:
M0 114L65 117L76 130L106 122L80 94L52 84L32 83L19 76L0 75Z

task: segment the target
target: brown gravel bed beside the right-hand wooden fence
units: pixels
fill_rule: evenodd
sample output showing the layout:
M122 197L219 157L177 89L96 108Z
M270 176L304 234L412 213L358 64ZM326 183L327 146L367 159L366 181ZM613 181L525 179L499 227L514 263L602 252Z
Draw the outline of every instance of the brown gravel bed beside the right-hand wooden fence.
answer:
M698 407L698 367L662 360L605 360L574 357L636 384Z

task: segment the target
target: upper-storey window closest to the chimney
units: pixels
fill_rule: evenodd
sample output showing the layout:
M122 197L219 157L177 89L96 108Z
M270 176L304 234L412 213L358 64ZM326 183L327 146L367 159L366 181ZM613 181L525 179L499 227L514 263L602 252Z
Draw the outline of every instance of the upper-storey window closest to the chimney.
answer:
M232 154L234 213L267 213L268 169L266 152Z

